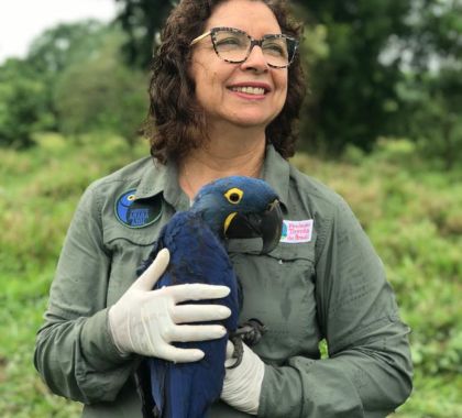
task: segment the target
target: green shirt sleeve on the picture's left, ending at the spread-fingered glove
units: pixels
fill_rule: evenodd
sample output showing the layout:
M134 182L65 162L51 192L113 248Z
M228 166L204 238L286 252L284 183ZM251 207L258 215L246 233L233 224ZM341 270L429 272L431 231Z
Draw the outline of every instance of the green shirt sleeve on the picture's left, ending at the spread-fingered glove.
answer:
M85 404L113 400L138 362L121 358L110 334L111 256L102 243L100 213L90 186L67 232L34 353L50 388Z

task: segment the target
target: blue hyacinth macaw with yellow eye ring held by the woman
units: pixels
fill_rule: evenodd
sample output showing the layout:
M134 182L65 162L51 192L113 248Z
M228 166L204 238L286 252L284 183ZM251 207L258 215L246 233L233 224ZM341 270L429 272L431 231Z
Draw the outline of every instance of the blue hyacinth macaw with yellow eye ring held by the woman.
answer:
M148 366L144 369L144 380L141 378L144 383L140 384L145 416L152 417L154 411L154 416L161 418L204 418L208 407L219 399L226 346L238 328L240 310L238 279L224 241L261 238L262 253L267 253L279 242L282 223L278 197L265 182L232 176L204 186L190 209L175 213L164 226L138 273L147 268L158 251L167 248L170 262L155 288L186 283L226 285L231 289L226 298L198 302L221 304L232 314L228 319L217 321L228 330L223 338L175 343L178 348L202 350L206 354L202 360L193 363L146 360ZM145 387L146 381L150 388Z

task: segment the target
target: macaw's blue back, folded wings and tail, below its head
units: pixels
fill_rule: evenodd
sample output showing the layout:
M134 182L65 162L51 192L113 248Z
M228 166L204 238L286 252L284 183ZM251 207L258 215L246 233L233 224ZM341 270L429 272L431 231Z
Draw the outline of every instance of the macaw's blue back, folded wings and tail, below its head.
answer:
M234 331L239 315L238 280L223 245L207 223L196 213L178 212L164 227L160 242L169 250L170 263L155 288L187 283L230 287L230 294L222 299L196 304L220 304L230 308L231 317L220 322L227 330ZM228 336L219 340L175 343L178 348L202 350L206 355L199 362L174 364L161 359L150 360L152 395L162 417L206 415L209 405L220 397L227 341ZM198 382L200 384L194 384Z

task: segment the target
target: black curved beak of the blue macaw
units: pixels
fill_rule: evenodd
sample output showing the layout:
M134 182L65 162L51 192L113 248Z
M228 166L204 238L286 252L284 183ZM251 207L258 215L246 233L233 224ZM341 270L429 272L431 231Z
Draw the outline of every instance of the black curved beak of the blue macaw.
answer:
M261 254L267 254L279 243L282 231L283 212L276 199L264 212L237 213L230 221L224 237L227 239L261 238L263 241Z

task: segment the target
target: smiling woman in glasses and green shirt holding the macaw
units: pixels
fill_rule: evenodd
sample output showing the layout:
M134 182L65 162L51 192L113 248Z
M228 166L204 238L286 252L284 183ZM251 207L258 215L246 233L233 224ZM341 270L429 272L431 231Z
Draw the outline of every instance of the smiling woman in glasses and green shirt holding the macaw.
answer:
M136 282L135 270L172 215L228 175L268 182L285 220L268 255L229 245L245 295L240 319L256 317L268 331L227 370L210 417L385 417L409 395L408 328L380 258L346 204L286 161L304 94L298 35L284 1L183 0L172 12L150 91L154 161L85 193L37 336L37 370L55 393L84 403L85 417L140 417L138 354L197 361L200 351L172 341L223 334L182 322L224 318L226 308L176 302L226 288L150 290L165 252ZM138 215L127 217L124 205ZM320 360L323 338L329 359Z

